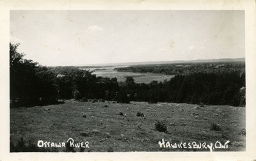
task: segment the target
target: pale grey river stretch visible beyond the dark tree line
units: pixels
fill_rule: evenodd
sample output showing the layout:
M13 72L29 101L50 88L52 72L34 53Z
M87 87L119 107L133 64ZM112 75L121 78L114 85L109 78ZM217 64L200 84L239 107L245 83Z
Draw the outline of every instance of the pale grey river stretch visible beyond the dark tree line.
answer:
M95 70L92 74L96 74L97 77L116 77L118 82L124 82L125 77L133 77L136 83L150 83L151 81L163 82L164 79L170 80L175 75L163 75L157 73L134 73L134 72L117 72L113 70L118 66L114 67L104 67L106 70L99 70L100 68L84 68L84 70Z

